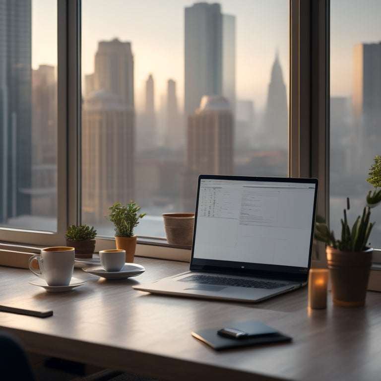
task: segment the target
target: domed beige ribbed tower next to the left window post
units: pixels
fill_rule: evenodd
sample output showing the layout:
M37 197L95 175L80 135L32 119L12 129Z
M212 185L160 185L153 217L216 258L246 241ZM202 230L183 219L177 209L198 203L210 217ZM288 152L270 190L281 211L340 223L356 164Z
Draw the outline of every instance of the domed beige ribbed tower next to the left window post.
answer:
M104 221L115 202L133 199L134 113L115 94L95 90L82 108L82 216Z

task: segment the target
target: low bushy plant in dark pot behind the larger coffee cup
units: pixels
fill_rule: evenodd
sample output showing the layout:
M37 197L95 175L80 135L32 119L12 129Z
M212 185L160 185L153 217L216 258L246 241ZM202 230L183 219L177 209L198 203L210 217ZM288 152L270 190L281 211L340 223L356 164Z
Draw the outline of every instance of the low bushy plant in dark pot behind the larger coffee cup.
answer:
M66 245L75 249L76 258L91 258L95 249L97 231L94 226L71 225L66 229Z

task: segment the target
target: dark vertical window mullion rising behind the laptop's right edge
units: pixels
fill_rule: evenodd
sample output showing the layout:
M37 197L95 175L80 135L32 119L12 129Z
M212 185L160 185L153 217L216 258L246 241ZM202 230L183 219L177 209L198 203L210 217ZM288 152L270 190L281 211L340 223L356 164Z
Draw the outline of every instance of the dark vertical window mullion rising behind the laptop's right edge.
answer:
M290 1L289 176L319 179L318 214L328 217L329 1ZM324 245L314 258L325 264Z

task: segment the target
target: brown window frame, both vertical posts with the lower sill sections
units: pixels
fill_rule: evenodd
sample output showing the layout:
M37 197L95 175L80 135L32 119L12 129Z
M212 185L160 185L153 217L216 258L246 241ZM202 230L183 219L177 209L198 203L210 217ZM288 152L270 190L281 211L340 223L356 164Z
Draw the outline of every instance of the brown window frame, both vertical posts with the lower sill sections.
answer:
M81 0L58 3L58 212L57 232L0 228L0 241L64 245L69 224L81 221ZM329 0L289 0L290 177L319 179L318 213L328 217ZM98 238L96 251L112 238ZM16 244L17 245L17 244ZM315 259L324 264L323 247ZM136 255L189 260L190 251L165 240L138 237Z

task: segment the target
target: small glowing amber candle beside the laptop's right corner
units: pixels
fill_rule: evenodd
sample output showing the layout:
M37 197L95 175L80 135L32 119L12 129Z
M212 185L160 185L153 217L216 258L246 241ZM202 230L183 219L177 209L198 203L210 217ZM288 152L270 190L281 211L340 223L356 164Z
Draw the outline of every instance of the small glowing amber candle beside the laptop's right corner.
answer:
M311 308L327 307L328 270L312 268L308 280L308 305Z

